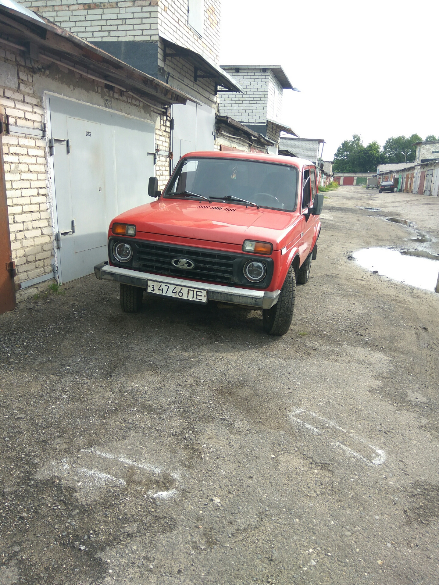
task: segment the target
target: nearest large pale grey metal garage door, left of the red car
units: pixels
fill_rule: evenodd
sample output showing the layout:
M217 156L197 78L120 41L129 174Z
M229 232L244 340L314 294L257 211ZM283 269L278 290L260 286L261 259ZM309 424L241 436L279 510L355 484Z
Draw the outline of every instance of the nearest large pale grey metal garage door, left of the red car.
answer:
M66 283L107 260L107 230L114 216L153 201L152 123L49 98L54 139L54 198L58 225L58 269Z

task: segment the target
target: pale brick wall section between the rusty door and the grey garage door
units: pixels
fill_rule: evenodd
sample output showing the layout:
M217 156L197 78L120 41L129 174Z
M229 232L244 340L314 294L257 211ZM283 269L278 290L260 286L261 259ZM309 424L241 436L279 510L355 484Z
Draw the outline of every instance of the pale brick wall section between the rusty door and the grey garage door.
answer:
M44 111L33 92L33 72L18 51L0 46L0 67L16 71L16 87L0 87L0 105L9 124L40 130ZM2 135L6 195L16 285L53 272L52 218L48 202L46 140L32 135ZM47 284L46 284L47 286ZM20 294L18 294L20 298Z

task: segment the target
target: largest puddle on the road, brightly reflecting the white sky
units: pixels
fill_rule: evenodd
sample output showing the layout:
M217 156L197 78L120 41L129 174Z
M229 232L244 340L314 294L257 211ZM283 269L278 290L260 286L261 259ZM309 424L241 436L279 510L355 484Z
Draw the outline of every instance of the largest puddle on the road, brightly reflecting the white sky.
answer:
M352 254L363 268L412 287L435 291L439 261L388 248L365 248Z

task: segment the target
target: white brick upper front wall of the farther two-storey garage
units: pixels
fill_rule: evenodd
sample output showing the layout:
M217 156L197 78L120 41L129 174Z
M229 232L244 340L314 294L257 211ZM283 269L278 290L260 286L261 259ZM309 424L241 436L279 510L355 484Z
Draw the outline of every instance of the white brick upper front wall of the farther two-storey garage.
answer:
M219 115L238 122L265 124L267 119L270 71L262 69L225 68L243 88L245 94L220 94Z

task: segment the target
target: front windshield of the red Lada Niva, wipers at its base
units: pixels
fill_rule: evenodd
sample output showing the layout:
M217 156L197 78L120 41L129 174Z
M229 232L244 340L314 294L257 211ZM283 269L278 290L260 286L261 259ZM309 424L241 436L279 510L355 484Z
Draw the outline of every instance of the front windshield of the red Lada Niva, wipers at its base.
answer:
M234 159L184 159L163 197L203 197L253 203L260 207L296 209L297 168L284 164ZM244 199L245 201L237 201Z

